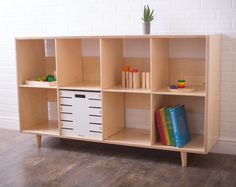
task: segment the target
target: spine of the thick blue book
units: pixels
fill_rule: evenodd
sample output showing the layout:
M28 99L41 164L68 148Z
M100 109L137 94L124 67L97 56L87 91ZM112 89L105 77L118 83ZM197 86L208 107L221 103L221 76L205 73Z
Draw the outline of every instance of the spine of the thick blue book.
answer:
M171 123L172 123L172 128L173 128L173 134L175 138L175 145L176 147L181 147L180 132L178 128L178 118L175 114L176 112L174 109L170 110L170 118L171 118Z

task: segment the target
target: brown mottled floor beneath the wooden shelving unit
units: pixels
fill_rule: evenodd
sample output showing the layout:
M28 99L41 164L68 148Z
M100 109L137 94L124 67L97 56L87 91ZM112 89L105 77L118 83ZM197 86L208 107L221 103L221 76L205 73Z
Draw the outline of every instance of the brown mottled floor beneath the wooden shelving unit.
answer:
M236 156L103 145L0 129L0 186L236 186Z

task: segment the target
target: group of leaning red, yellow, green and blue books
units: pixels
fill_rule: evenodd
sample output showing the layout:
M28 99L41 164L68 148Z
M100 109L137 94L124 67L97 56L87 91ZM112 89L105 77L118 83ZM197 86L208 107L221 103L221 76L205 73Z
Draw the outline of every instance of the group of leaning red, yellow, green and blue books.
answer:
M184 105L157 109L155 119L162 144L183 147L190 141Z

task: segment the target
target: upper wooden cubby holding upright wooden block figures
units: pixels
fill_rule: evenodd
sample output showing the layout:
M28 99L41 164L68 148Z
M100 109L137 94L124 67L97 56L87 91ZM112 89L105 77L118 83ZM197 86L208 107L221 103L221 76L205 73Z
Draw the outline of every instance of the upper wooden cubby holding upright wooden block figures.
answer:
M102 88L111 92L149 93L146 89L130 89L121 85L125 65L150 72L149 38L103 38L101 40Z

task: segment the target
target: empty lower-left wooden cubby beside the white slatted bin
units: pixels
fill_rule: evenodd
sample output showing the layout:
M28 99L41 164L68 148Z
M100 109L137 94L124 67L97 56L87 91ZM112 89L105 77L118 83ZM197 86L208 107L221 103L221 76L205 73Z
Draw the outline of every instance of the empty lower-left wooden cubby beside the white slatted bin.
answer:
M56 90L20 88L19 99L22 132L59 136Z

